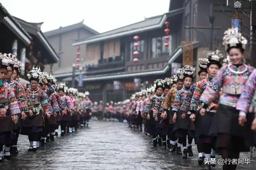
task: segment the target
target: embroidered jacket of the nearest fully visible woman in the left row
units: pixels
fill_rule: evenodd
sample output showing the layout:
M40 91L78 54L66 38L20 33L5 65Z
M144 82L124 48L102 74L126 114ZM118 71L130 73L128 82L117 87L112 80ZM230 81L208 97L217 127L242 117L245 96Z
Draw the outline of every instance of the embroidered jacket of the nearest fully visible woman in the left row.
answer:
M33 90L32 88L28 88L26 93L28 93L28 96L30 97L30 102L28 102L29 109L39 107L44 114L51 113L50 104L42 89Z

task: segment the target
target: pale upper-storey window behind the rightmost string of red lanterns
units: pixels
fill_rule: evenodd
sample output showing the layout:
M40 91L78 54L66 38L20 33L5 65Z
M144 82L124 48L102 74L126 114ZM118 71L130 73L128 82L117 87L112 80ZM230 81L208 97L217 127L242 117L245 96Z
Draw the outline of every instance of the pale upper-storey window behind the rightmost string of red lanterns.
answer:
M151 43L151 58L161 57L163 55L171 55L172 53L172 36L169 35L169 40L167 41L165 36L152 38ZM166 48L165 43L169 46Z

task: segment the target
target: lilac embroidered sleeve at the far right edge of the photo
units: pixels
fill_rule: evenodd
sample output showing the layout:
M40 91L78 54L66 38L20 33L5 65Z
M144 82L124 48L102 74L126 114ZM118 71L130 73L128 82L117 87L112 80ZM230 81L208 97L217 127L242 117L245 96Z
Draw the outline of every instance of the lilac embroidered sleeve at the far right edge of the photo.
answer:
M252 103L252 98L255 95L256 90L256 69L250 74L245 88L240 95L240 98L237 102L236 109L244 112L248 112L250 104Z

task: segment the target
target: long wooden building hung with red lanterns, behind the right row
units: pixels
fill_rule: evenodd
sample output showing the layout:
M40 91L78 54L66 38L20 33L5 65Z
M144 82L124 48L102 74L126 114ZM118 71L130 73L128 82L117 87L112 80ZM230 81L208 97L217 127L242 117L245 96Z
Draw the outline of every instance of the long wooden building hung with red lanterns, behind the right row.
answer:
M222 0L170 0L169 12L165 14L79 39L73 43L74 47L86 45L86 53L81 55L86 63L81 90L88 90L92 100L102 100L103 96L104 102L117 102L158 78L175 74L182 65L196 66L198 58L206 57L209 46L213 50L221 48L223 32L230 27L230 17L221 13L222 8L227 14L234 14L225 5ZM215 17L212 32L210 10ZM164 45L166 21L170 23L168 48ZM139 47L134 47L135 35L140 37ZM136 63L135 50L140 53ZM75 73L76 80L78 74ZM56 76L71 81L72 75L70 71Z

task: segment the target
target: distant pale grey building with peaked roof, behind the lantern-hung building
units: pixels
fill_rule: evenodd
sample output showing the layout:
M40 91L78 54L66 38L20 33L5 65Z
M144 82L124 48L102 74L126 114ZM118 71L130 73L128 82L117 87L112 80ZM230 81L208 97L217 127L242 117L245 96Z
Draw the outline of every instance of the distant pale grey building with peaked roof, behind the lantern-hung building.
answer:
M60 61L46 66L46 70L54 74L72 71L72 63L76 62L76 47L72 43L77 39L98 34L94 29L84 25L84 20L79 23L60 27L44 33L52 47L57 51ZM85 56L86 45L81 45L81 56Z

